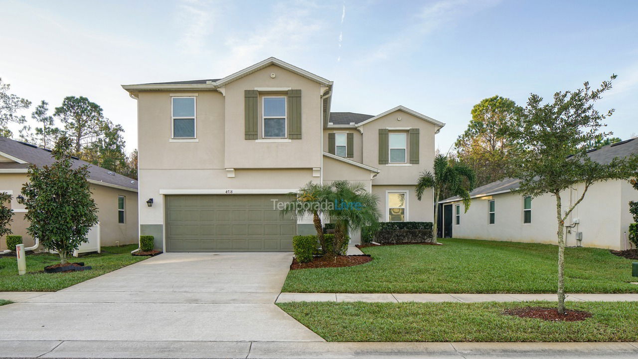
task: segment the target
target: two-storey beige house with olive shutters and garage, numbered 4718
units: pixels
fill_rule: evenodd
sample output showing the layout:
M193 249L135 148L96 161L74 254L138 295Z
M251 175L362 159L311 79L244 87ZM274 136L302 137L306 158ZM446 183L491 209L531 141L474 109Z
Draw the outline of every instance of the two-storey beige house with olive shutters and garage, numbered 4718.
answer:
M418 112L330 113L332 81L274 57L223 79L122 88L138 101L140 234L156 248L290 251L315 229L274 205L310 181L364 183L383 220L433 218L414 186L444 124Z

